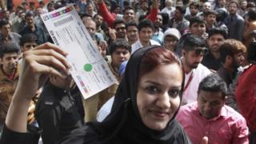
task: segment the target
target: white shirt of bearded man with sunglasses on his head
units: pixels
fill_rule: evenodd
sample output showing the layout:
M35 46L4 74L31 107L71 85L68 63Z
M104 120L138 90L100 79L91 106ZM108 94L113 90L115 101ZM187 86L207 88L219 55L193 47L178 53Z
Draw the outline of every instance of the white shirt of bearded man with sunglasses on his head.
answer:
M196 69L190 71L189 74L185 74L185 85L189 81L191 74L193 74L193 78L190 81L187 89L183 92L182 102L191 103L196 102L198 98L198 86L203 78L206 78L211 71L206 67L199 63Z

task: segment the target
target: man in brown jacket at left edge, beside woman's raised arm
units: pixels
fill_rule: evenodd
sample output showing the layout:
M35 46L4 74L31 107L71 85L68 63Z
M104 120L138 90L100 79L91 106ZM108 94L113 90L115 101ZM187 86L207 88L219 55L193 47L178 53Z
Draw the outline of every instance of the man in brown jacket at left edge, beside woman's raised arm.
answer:
M0 127L4 124L18 83L19 48L13 43L0 46Z

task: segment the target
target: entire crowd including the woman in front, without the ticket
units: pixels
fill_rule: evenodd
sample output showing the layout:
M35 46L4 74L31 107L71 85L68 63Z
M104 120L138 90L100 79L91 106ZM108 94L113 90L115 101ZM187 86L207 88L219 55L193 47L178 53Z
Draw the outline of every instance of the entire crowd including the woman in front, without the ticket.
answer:
M256 143L253 0L8 2L0 143ZM86 99L40 18L68 5L116 79Z

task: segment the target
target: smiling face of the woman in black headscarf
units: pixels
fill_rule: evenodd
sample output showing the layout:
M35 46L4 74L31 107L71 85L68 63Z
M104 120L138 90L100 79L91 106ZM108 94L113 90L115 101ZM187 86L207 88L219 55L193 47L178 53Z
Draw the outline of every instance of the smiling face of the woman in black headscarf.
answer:
M142 75L138 84L138 111L145 126L164 130L178 110L182 70L178 64L157 66Z

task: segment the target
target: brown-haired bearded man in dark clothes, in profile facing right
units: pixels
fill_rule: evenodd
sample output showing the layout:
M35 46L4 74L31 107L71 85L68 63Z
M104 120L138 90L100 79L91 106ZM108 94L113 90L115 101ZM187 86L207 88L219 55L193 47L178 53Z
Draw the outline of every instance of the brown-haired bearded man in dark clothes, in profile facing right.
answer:
M226 105L231 106L234 110L240 111L237 106L237 100L234 92L238 83L238 78L242 74L243 62L245 61L244 53L246 46L235 39L227 39L219 48L220 60L222 66L218 69L218 75L226 82L227 94ZM238 69L239 67L239 69Z

